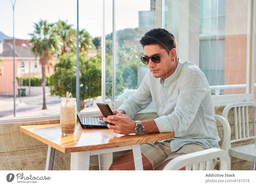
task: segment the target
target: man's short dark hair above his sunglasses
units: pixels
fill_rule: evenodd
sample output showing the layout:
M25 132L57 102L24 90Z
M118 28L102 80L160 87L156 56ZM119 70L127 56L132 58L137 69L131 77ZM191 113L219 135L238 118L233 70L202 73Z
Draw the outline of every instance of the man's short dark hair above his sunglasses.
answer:
M157 44L163 49L175 48L177 49L177 42L172 35L172 33L168 32L164 28L154 28L149 30L141 39L140 44L143 46ZM169 54L169 53L168 53ZM177 58L177 56L176 56Z

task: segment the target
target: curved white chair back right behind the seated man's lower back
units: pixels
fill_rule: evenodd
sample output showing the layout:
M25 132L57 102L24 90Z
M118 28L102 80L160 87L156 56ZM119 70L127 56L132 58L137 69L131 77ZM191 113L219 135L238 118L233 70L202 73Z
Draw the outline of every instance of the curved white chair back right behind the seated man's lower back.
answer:
M222 141L222 146L221 149L224 151L228 151L230 148L230 138L231 138L231 129L230 125L228 123L228 120L226 120L223 116L216 115L214 116L214 119L219 121L220 124L223 127L223 141Z

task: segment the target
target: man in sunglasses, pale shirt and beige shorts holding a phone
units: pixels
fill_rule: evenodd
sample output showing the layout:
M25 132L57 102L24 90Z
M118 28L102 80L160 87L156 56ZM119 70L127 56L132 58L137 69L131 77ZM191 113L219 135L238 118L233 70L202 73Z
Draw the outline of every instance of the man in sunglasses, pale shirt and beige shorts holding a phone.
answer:
M209 84L198 66L177 57L174 36L165 29L152 29L140 40L144 48L141 61L149 71L138 90L114 111L100 119L119 134L174 132L175 137L141 144L144 170L162 170L182 154L219 147L220 138L214 120L214 107ZM153 101L158 118L133 121L138 112ZM212 168L216 159L212 161ZM134 170L132 150L120 156L109 170Z

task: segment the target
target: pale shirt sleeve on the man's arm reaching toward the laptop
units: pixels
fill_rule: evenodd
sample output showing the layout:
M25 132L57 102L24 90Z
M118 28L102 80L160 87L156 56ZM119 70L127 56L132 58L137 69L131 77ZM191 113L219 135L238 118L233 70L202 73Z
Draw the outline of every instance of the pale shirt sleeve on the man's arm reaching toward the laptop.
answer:
M147 73L136 92L125 100L118 108L118 110L124 110L125 114L131 119L133 119L137 112L147 108L147 106L152 102L151 93L148 87L148 78Z

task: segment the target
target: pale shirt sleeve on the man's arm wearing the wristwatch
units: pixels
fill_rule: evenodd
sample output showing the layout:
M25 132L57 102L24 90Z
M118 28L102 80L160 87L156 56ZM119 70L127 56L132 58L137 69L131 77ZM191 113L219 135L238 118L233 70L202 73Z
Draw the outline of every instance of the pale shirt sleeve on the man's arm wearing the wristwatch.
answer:
M190 71L182 83L174 111L154 121L160 132L174 132L175 136L182 133L196 117L197 110L204 99L209 86L202 72Z

